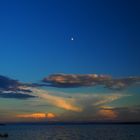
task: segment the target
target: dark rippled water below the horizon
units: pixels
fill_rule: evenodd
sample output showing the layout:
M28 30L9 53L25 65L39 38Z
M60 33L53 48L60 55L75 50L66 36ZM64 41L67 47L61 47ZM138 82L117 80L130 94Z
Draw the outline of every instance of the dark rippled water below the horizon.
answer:
M6 125L6 140L140 140L140 125Z

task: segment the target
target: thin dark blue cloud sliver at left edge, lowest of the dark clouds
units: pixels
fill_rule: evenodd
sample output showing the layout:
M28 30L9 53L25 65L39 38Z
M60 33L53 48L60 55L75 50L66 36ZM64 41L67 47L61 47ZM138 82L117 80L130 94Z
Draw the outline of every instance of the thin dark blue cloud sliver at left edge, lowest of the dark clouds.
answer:
M29 95L29 94L23 94L23 93L15 93L15 92L9 92L9 93L0 93L0 98L15 98L15 99L28 99L33 98L36 96Z

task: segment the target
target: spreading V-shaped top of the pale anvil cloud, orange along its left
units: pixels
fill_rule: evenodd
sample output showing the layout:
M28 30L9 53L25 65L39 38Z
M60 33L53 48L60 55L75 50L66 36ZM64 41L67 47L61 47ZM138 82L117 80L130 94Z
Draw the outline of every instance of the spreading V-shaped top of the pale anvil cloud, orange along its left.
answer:
M26 87L27 89L27 87ZM130 95L120 94L120 93L109 93L109 94L81 94L81 93L61 93L56 92L52 93L43 89L31 88L36 96L41 99L46 100L46 102L56 108L64 109L65 111L70 112L85 112L89 111L90 113L93 110L96 110L102 105L109 104L115 100L118 100L123 97L127 97Z

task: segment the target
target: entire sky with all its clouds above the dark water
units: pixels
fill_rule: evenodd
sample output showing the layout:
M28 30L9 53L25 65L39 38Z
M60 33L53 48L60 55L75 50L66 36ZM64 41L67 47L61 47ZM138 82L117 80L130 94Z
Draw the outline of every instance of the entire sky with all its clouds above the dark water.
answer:
M0 122L140 121L139 14L137 0L0 1Z

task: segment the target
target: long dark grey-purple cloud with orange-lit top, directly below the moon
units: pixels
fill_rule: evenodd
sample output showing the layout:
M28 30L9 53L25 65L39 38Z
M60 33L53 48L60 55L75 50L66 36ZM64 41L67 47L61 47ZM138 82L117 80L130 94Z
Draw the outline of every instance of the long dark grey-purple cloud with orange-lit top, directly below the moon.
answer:
M97 74L53 74L42 81L56 87L95 86L111 79L108 75Z

